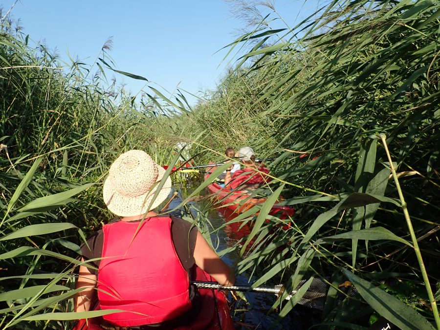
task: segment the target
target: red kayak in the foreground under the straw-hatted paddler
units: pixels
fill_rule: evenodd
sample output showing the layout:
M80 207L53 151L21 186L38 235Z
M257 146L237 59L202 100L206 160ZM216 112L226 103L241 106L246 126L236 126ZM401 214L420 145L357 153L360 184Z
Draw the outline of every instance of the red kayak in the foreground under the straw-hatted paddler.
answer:
M204 282L215 281L208 273L196 268L196 280ZM229 312L228 301L222 291L213 289L198 289L201 298L201 308L196 319L187 326L178 327L178 330L234 330L234 322ZM99 309L96 308L96 309ZM101 317L79 320L73 330L102 330ZM154 329L154 328L152 328Z

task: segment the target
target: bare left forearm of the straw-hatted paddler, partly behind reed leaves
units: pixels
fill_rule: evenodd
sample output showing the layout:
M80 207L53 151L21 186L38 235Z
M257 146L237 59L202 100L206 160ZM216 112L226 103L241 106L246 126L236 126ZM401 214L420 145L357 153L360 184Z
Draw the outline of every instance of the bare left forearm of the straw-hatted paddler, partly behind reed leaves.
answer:
M81 260L84 262L84 259ZM74 308L76 312L88 311L91 308L91 302L95 298L96 275L90 273L84 265L80 266L76 289L85 287L84 290L78 292L74 299Z

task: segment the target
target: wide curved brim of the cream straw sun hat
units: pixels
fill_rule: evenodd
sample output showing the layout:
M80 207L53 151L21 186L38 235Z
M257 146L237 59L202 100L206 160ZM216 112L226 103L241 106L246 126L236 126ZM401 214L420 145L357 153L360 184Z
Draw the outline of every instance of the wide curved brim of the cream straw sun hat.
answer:
M112 213L120 217L140 216L159 206L160 203L162 203L170 195L172 183L170 176L168 176L159 193L157 194L157 197L152 203L154 194L156 193L157 188L160 186L163 176L165 175L164 168L157 164L155 164L155 166L157 167L158 175L153 189L146 194L137 197L120 195L116 191L117 182L112 182L110 177L106 179L103 187L103 198L104 202Z

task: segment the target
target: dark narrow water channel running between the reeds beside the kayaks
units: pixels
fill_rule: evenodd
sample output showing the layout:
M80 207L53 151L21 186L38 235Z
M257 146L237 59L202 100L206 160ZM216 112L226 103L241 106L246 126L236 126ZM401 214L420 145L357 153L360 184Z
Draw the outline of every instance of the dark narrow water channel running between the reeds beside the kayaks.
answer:
M170 209L176 207L182 199L189 196L191 192L198 187L198 184L198 182L190 181L186 186L180 186L177 188L179 193L178 198L175 198L172 201L170 204ZM203 191L201 194L208 195L208 192ZM193 207L207 215L212 225L212 228L209 228L210 232L220 228L225 223L225 218L230 219L230 214L227 212L225 213L221 209L219 210L213 208L209 198L200 198L199 200L196 198L196 201L191 201L189 204L191 205L190 211L193 215L197 216L197 211L194 210ZM179 216L179 214L176 214L176 216ZM219 252L233 246L237 241L240 240L243 234L246 234L246 232L249 232L249 230L250 228L244 228L243 230L238 231L238 225L234 226L233 228L231 226L226 226L211 233L211 240L214 247ZM223 255L221 258L227 264L232 266L239 258L239 254L236 250ZM263 275L263 273L260 273L260 275ZM255 282L258 279L258 276L258 272L254 273L253 277L251 277L250 272L245 272L237 276L236 283L248 285ZM267 283L266 286L276 284L279 283ZM231 314L236 324L236 328L271 329L274 325L274 322L277 320L278 314L275 312L268 313L268 310L276 301L276 296L268 293L253 292L245 293L245 296L248 304L245 304L243 301L237 301L231 309ZM228 299L231 301L231 303L235 301L231 294L228 295ZM317 322L318 315L319 314L317 314L316 310L297 305L285 318L281 319L279 324L272 329L309 329L310 326Z

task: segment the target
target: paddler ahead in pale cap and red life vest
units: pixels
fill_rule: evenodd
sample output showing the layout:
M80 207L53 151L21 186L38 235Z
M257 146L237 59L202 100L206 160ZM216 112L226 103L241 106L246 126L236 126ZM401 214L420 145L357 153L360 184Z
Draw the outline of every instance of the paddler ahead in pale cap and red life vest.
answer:
M230 169L226 170L224 178L226 188L249 191L257 189L267 182L268 177L265 174L269 174L269 169L264 167L263 164L260 167L257 166L252 148L243 147L235 156L240 158L245 168L235 171L233 175L231 175Z

